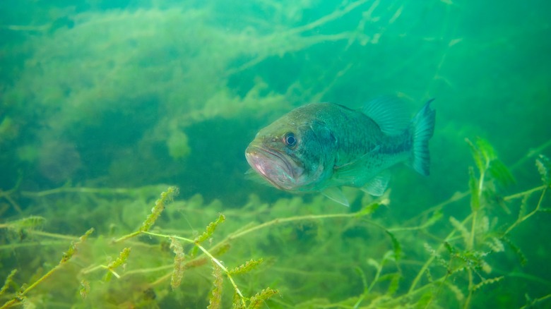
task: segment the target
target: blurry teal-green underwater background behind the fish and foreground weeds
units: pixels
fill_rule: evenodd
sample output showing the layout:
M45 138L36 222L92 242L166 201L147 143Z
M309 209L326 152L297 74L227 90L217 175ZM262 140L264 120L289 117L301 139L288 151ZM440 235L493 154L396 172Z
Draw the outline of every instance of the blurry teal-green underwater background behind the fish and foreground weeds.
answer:
M0 188L9 194L0 194L1 221L34 215L45 218L43 231L55 234L80 235L95 227L96 236L120 235L139 226L165 183L179 187L181 201L165 217L168 234L201 231L217 212L227 214L228 233L243 222L355 212L369 204L357 190L345 192L353 200L346 209L317 195L295 197L248 181L244 149L260 128L294 107L336 102L357 108L379 95L402 97L412 114L435 98L437 125L431 176L394 167L391 203L373 214L377 224L422 224L425 210L468 190L468 166L475 164L466 138L488 140L516 178L509 186L488 181L496 196L536 188L534 159L551 156L550 10L547 1L535 0L3 1ZM59 187L105 192L32 195ZM117 195L110 188L136 189ZM527 198L528 209L538 203L538 194ZM492 208L489 200L487 237L510 226L520 205L515 200ZM546 205L549 198L541 207ZM422 263L415 261L427 260L425 243L436 248L454 228L448 218L461 221L471 207L466 198L439 211L444 219L430 231L396 234L405 255L398 295L419 271ZM526 255L526 266L514 250L488 257L493 271L483 276L506 277L481 288L487 290L475 293L470 307L517 308L529 302L526 297L551 291L550 219L538 213L509 234ZM273 308L317 298L345 301L362 293L354 267L372 280L367 260L380 260L393 243L365 222L330 223L268 229L249 248L236 244L226 259L237 264L251 257L273 259L254 278L243 279L251 291L279 289L278 301L268 303ZM32 265L18 273L20 283L54 266L69 243L40 245L33 249L44 252L38 258L10 247L36 238L2 235L0 278ZM312 266L320 254L319 267ZM98 253L96 260L102 259ZM196 303L189 308L204 307L209 289L204 278L211 270L203 268L195 274L199 278L191 277L199 282L191 286L204 285L202 294L187 293L189 286L173 294L163 292L167 286L155 288L160 307L190 299ZM80 275L64 279L72 282L74 276ZM455 280L466 293L465 273ZM386 289L383 284L377 293ZM465 305L452 289L446 291L434 292L427 306ZM45 294L35 297L44 301ZM90 305L75 297L66 303Z

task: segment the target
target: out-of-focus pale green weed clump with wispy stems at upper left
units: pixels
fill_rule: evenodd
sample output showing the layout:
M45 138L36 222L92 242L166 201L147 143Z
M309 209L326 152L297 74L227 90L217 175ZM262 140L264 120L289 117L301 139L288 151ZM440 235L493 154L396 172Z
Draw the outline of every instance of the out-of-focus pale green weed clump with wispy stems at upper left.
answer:
M32 59L3 101L20 111L19 116L46 121L45 131L36 136L42 141L64 135L68 128L95 128L108 121L106 115L119 112L167 133L170 155L182 157L186 145L175 143L185 143L186 127L284 103L284 95L266 90L259 79L237 95L227 87L232 75L270 56L350 40L349 32L303 35L366 2L348 4L300 28L282 24L271 34L261 32L262 25L221 30L224 25L204 22L211 11L193 6L81 13L70 16L73 27L32 39ZM357 33L354 40L364 37ZM26 109L29 104L35 109L32 114ZM165 112L158 115L156 106ZM3 131L11 122L3 119Z

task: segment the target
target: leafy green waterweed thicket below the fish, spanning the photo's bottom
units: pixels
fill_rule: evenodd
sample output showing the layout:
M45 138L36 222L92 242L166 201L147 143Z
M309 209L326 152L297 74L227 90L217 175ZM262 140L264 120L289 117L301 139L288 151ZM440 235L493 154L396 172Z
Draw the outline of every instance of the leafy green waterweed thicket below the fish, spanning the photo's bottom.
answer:
M32 269L14 269L0 290L0 297L6 300L3 308L47 301L47 294L41 291L48 290L45 282L54 276L65 278L64 285L72 286L70 291L78 291L83 307L98 301L106 306L123 303L157 306L185 300L186 303L199 301L208 308L225 308L230 303L234 308L262 308L266 304L270 304L271 308L434 308L444 304L446 308L470 308L476 298L484 297L482 291L487 286L506 281L509 277L506 273L495 274L494 267L499 267L495 258L497 255L509 251L519 257L521 265L526 265L526 255L511 240L511 233L538 212L545 212L546 208L541 205L550 187L547 182L549 161L540 156L536 165L544 181L543 186L502 197L500 200L506 202L521 200L519 215L504 225L492 224L496 211L503 212L503 209L494 207L496 198L492 195L497 193L491 184L494 181L503 182L499 178L504 175L510 179L511 174L502 168L497 174L490 172L497 156L487 155L494 153L489 143L479 140L470 145L478 168L476 173L474 169L469 171L470 190L429 208L428 215L422 214L418 218L419 224L409 226L386 227L372 219L372 215L380 210L379 205L389 205L388 195L369 202L358 212L298 214L293 217L280 217L280 207L297 207L295 209L302 211L321 207L320 212L336 209L334 205L321 202L321 198L314 198L309 203L301 198L280 200L277 205L267 208L259 204L258 198L251 196L249 204L241 209L225 210L226 214L218 214L217 219L204 223L206 228L203 231L173 229L170 226L180 222L173 221L174 216L186 213L187 220L193 221L195 219L191 214L214 217L219 204L203 205L199 195L178 202L174 200L177 188L169 187L155 201L146 220L136 224L136 231L129 231L109 241L102 235L91 238L90 230L71 245L57 266L41 276L30 276ZM105 193L105 190L101 192ZM64 191L77 191L79 194L100 192L67 187L54 191L54 194L63 194ZM488 191L490 194L487 194ZM120 191L134 195L132 192ZM533 210L528 210L528 202L534 193L540 193L540 198ZM35 196L44 198L48 195ZM444 220L444 207L451 203L465 203L467 196L470 196L470 214L463 218L450 215L448 220ZM505 218L509 216L505 215ZM266 220L266 216L275 217ZM37 237L66 237L36 230L36 224L32 222L45 224L44 219L37 218L14 220L2 227L23 229ZM257 221L258 218L263 219ZM159 227L160 221L167 226ZM230 224L229 230L224 229L226 224ZM439 236L443 226L447 227L447 231L444 236ZM98 226L97 229L103 228ZM362 236L366 232L371 235L367 243ZM415 241L420 235L425 236ZM355 241L358 237L359 243ZM344 243L352 246L345 247L342 255L336 254L335 249ZM360 246L360 243L364 245ZM367 259L355 260L363 250L370 252L375 246L381 246L380 243L385 244L386 250L368 253L370 257ZM25 250L21 246L24 244L14 243L13 246L17 250ZM32 243L28 245L33 246ZM366 245L367 248L362 248ZM417 250L415 246L420 246L422 250ZM307 255L300 253L304 248L309 248ZM333 251L331 255L319 254L330 248ZM111 257L107 262L99 262L102 255L97 253L100 251L109 252ZM251 253L259 253L262 257L246 257ZM350 269L349 274L346 267L335 264L339 256L343 259L341 261L355 260L355 267ZM410 265L410 260L417 262ZM310 271L304 270L308 265L312 267L312 263L317 266ZM69 264L71 267L66 266ZM327 267L331 265L337 267L335 272L317 268L330 269ZM62 275L64 272L66 276ZM256 276L256 273L262 275ZM30 283L18 286L19 274L24 274ZM198 274L203 275L197 277ZM334 280L331 279L333 276L345 276L345 280L350 282L357 280L357 288L351 289L353 284L344 284L342 287L331 286L337 290L336 293L314 293L315 289L319 289L315 288L317 284ZM309 280L304 281L306 278ZM208 289L206 281L210 282ZM201 286L199 293L194 292L199 287L196 284ZM231 292L225 289L225 285L230 286ZM42 289L37 289L39 286ZM341 288L349 291L343 294ZM118 292L122 289L131 292L122 296ZM276 295L280 297L274 297ZM203 301L198 300L198 296ZM544 303L548 298L551 296L528 298L527 305ZM454 302L450 303L451 300ZM68 302L79 306L75 299Z

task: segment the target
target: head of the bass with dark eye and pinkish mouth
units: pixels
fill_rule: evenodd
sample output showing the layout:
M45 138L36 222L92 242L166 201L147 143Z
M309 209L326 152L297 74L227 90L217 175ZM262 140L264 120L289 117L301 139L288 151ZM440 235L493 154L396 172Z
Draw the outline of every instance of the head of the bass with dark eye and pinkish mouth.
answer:
M316 133L316 121L282 117L263 128L245 150L247 162L262 178L286 191L312 190L323 180L328 143Z

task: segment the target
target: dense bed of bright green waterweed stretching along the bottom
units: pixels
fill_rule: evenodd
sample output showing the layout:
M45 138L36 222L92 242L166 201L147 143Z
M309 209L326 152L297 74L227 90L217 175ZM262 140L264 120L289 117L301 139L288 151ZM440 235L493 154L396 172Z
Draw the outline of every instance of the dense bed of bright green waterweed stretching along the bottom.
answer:
M17 265L28 265L11 265L14 269L0 289L1 308L21 303L75 308L92 303L104 308L176 303L208 308L230 303L235 308L471 308L493 297L483 292L489 286L518 284L511 281L514 277L527 278L524 284L551 286L545 277L503 270L515 263L504 259L506 253L516 256L519 265L528 263L523 253L528 245L519 245L514 234L524 222L549 212L544 205L551 186L550 160L543 155L536 159L541 186L502 195L514 181L509 170L485 140L468 145L475 162L468 173L469 190L391 226L374 217L381 205L391 202L388 194L377 200L357 197L364 205L357 212L343 212L322 197L310 202L280 199L268 206L251 195L247 205L217 215L219 201L203 205L200 195L178 200L174 187L161 194L149 214L136 213L136 207L147 209L144 197L159 187L20 192L48 203L87 195L100 212L112 214L111 222L95 222L95 232L90 229L80 238L37 229L48 226L44 217L1 224L0 229L25 235L4 234L3 265L11 264L13 253ZM116 195L127 198L113 201ZM446 214L451 205L470 211L463 217ZM297 215L288 217L290 208ZM138 222L140 216L145 221ZM61 254L57 248L69 240L73 244ZM30 250L41 254L27 255ZM61 254L59 263L47 267L56 254ZM551 298L550 293L521 291L527 306ZM511 299L519 302L518 297Z

